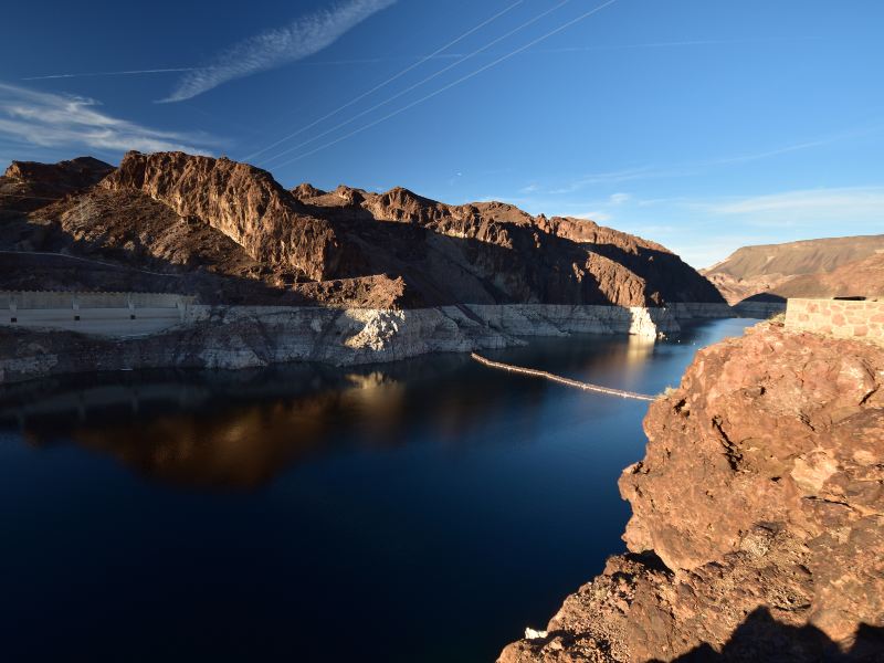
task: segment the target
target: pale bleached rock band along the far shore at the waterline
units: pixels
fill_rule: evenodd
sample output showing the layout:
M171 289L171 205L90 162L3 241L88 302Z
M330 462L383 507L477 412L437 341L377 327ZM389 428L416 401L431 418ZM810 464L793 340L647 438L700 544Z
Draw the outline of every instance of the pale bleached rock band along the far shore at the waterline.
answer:
M107 318L117 309L101 311ZM118 311L122 315L113 325L125 329L129 309ZM665 308L505 304L402 311L192 304L170 311L176 312L171 318L160 314L171 319L169 326L144 336L70 330L90 322L87 308L77 312L82 320L56 329L0 325L0 385L92 370L383 364L432 352L514 347L530 336L623 334L652 339L677 334L680 322L739 317L720 304Z

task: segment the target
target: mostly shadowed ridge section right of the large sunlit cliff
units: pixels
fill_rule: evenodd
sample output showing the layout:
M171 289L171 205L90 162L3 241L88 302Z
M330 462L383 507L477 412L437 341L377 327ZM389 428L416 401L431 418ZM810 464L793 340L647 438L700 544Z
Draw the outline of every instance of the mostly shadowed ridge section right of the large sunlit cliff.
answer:
M722 301L708 282L697 278L691 266L665 248L592 221L532 217L501 202L450 206L401 187L385 193L344 186L329 193L315 191L309 185L294 190L314 213L361 220L358 228L362 230L370 221L396 223L398 230L386 229L385 244L396 245L418 229L431 231L425 235L430 251L415 254L422 262L420 269L448 288L455 287L459 278L464 281L456 295L461 299L472 293L483 297L467 299L476 303L607 301L642 306ZM412 253L415 249L412 245ZM397 250L398 255L403 253ZM514 254L518 256L515 261ZM396 269L381 262L378 252L372 256L378 269ZM448 264L440 264L442 259ZM443 270L448 274L442 274Z

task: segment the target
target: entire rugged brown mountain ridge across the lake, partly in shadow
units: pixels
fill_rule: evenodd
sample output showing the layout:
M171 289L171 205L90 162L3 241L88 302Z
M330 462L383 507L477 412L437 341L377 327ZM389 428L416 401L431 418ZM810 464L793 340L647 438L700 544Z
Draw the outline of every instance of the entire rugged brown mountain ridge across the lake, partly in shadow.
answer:
M71 170L66 164L78 164L83 177L48 188ZM501 202L449 206L401 187L290 191L248 164L183 152L129 152L118 168L90 159L13 164L0 178L0 249L19 261L0 270L8 288L104 287L110 278L33 257L49 252L118 263L116 288L186 288L206 301L722 302L664 246L591 221L532 217Z

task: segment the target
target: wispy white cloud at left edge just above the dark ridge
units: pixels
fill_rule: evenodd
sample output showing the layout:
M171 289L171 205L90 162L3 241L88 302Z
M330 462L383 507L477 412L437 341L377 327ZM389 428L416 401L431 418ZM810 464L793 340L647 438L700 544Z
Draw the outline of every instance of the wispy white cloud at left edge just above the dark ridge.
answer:
M113 117L98 109L95 99L36 92L0 83L0 137L14 145L36 147L83 146L97 150L185 150L210 138L164 131Z

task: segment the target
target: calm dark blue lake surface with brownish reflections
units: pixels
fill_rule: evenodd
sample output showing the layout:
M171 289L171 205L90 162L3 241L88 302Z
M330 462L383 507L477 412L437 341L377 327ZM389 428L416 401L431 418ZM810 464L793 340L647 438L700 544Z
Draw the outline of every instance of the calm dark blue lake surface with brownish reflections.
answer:
M680 341L486 352L621 389ZM620 552L646 402L467 356L0 390L0 660L494 661Z

